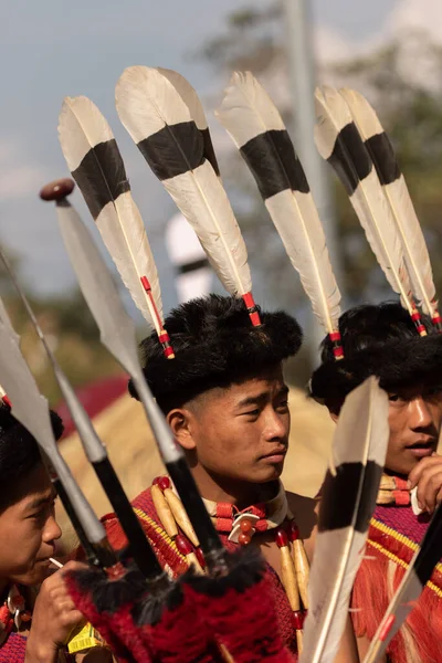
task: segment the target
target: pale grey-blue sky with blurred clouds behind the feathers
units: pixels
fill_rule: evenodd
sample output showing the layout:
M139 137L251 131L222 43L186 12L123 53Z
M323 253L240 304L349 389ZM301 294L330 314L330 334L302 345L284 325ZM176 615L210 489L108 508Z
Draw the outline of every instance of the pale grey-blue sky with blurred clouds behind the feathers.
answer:
M192 53L222 30L224 18L241 6L240 1L2 3L0 239L21 256L22 278L36 293L61 294L74 283L55 211L38 198L44 183L67 175L56 133L57 115L66 95L91 97L109 120L154 245L160 280L169 281L162 228L175 212L173 204L118 122L115 83L126 66L159 65L178 70L204 95L218 80L210 66L198 62ZM262 6L266 2L253 0ZM357 44L391 33L401 21L407 24L421 20L423 13L431 25L432 11L434 19L435 14L441 18L439 3L440 0L313 0L322 55L327 56L328 51L333 56L351 52ZM427 11L422 12L424 4ZM219 81L220 90L225 83ZM81 196L75 193L73 200L92 228ZM99 235L96 236L99 243Z

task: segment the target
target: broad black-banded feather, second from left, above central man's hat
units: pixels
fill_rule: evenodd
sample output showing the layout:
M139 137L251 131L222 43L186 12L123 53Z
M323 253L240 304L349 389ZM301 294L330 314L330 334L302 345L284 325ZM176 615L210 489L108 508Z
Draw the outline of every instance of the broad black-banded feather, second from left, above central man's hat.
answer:
M188 105L168 77L146 66L125 70L115 98L123 125L192 225L222 285L244 299L260 325L245 243Z

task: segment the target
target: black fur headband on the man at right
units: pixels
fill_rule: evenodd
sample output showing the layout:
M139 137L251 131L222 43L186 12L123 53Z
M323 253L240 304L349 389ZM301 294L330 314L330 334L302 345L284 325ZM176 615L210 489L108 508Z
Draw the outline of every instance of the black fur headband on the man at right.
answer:
M394 391L422 381L442 382L442 335L422 317L425 337L400 304L357 306L339 318L345 359L334 359L328 337L322 365L314 371L311 393L318 400L341 400L369 376Z

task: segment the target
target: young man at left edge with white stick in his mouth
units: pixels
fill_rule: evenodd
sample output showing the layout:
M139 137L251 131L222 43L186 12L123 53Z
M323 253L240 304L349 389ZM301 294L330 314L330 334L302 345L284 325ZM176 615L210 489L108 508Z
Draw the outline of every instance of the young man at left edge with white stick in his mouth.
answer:
M52 423L59 439L63 424L54 412ZM70 561L51 575L50 558L62 534L54 518L56 495L35 440L6 406L0 407L0 662L54 663L84 621L63 580L67 569L81 565Z

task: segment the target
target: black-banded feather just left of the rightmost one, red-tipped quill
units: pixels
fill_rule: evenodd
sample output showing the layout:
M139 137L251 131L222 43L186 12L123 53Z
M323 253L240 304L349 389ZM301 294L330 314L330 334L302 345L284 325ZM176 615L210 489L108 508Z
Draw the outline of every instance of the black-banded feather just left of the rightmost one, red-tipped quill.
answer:
M378 176L345 99L333 87L315 92L315 141L343 182L367 240L392 290L400 295L421 336L425 336L411 297L402 245Z

